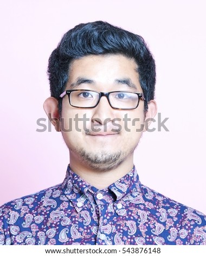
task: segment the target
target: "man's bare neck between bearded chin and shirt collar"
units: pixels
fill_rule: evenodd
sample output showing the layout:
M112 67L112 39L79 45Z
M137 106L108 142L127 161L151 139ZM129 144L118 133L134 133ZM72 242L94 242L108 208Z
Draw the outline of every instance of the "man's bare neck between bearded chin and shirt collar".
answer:
M78 157L70 153L70 168L90 185L102 190L121 179L133 168L133 154L121 163L117 168L110 170L92 169L87 163L81 162Z

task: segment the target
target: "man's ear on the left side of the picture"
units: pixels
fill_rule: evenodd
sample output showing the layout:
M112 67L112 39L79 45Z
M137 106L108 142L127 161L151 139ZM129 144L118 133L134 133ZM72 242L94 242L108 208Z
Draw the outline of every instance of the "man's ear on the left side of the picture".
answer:
M46 99L46 101L43 103L43 108L51 124L55 126L57 132L60 132L60 114L57 99L55 99L55 97L48 97L48 99Z

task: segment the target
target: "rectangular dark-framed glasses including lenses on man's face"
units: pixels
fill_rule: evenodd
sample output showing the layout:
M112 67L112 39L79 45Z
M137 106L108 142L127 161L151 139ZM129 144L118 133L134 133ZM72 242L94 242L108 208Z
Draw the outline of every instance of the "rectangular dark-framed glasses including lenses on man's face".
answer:
M69 97L69 103L73 107L93 108L96 107L102 96L107 97L112 108L134 109L139 105L139 100L145 100L143 93L115 91L115 92L96 92L94 90L66 90L60 97Z

